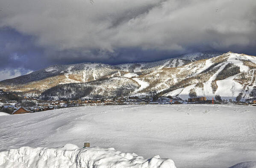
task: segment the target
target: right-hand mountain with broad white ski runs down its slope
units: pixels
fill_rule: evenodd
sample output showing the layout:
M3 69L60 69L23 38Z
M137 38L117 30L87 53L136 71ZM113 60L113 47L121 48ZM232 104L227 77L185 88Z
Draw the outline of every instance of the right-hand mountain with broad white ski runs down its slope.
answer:
M165 80L177 82L162 94L182 99L197 96L211 99L218 95L222 99L246 101L256 97L255 70L255 56L228 52L178 67L171 76L165 72L169 76Z

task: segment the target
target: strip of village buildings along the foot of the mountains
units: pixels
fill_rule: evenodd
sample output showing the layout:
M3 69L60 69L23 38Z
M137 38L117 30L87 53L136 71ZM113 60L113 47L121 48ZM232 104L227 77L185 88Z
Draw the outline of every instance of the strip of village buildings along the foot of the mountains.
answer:
M87 100L69 100L69 101L43 101L36 98L24 98L21 102L8 101L3 104L0 99L0 111L10 114L35 113L40 111L53 110L65 107L76 107L85 105L121 105L121 104L183 104L183 103L207 103L206 97L188 98L188 101L182 101L173 98L159 97L153 100L151 95L125 96L109 99L87 99ZM219 101L214 101L220 104ZM256 105L256 100L250 102ZM248 105L245 103L244 105Z

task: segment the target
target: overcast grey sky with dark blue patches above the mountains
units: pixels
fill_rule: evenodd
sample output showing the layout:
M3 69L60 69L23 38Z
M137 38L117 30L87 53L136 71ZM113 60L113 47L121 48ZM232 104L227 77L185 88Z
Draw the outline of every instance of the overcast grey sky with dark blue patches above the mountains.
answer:
M200 51L256 55L256 0L0 0L0 80Z

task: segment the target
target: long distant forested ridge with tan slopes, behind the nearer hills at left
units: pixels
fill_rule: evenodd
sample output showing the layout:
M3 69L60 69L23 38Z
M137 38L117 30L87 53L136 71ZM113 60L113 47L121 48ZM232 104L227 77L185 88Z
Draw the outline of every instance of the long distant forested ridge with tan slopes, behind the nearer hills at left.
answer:
M205 54L205 57L214 57L217 52ZM195 53L192 55L202 55ZM179 67L191 63L191 58L170 58L155 62L142 62L133 64L108 65L101 63L81 63L72 65L52 65L47 68L22 75L17 78L0 81L0 88L9 91L41 93L59 84L80 83L95 81L101 78L116 76L129 77L141 75L153 70L169 67Z

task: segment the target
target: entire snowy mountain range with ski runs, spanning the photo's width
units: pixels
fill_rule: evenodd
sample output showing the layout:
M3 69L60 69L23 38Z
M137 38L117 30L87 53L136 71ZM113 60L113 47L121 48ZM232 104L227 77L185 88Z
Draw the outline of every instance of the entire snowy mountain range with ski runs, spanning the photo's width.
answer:
M211 99L216 95L240 101L255 98L256 57L232 52L216 55L201 52L115 66L100 63L53 65L1 81L0 87L55 98L126 96L149 91L183 100L197 96Z

